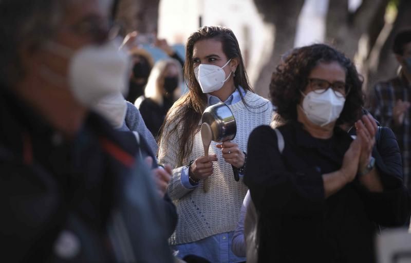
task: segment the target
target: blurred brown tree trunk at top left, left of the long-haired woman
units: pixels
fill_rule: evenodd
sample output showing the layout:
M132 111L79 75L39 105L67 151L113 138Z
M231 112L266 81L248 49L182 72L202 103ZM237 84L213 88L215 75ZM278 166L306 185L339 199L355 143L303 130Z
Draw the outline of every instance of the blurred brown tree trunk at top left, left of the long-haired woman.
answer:
M124 33L156 33L160 0L118 0L116 21L124 27Z

